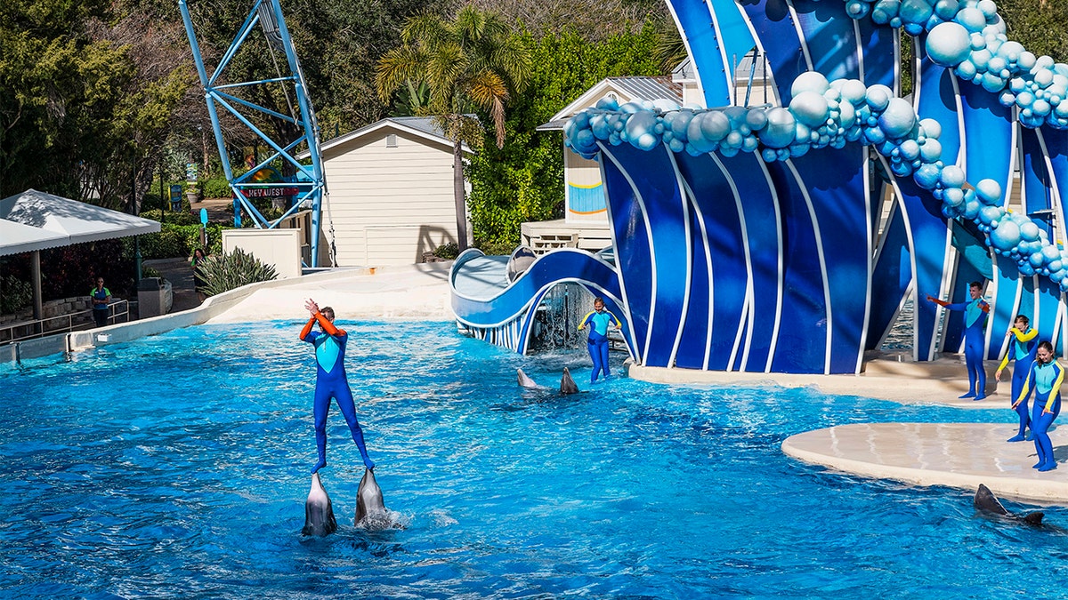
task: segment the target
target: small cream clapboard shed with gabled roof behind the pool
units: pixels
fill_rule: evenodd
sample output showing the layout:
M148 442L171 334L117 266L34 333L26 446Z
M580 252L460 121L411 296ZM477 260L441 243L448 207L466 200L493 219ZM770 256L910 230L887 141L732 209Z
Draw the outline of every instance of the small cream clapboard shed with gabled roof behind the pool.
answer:
M453 143L430 117L383 119L320 152L329 191L320 251L332 224L337 266L411 265L457 243Z

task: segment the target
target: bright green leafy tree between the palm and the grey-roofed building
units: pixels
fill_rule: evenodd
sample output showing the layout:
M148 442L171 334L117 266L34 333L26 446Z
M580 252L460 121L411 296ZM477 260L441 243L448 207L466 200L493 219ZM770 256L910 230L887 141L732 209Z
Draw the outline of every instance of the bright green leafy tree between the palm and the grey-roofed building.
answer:
M654 76L662 73L654 48L659 33L649 22L638 32L590 43L575 29L534 38L534 70L528 92L517 96L505 123L503 147L487 144L471 161L471 221L476 244L503 253L519 243L523 221L562 218L564 152L561 135L536 131L553 114L606 77ZM487 137L489 133L487 132Z

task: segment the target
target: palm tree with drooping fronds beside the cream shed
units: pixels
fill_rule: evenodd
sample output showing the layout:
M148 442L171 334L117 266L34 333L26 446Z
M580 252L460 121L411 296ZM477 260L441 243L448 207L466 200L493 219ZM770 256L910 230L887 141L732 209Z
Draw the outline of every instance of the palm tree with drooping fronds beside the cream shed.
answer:
M424 13L405 23L403 45L378 61L375 84L382 100L408 82L425 83L429 101L420 108L453 142L453 194L460 251L467 248L467 202L461 146L481 147L483 129L471 114L493 121L497 146L504 145L504 104L527 85L530 49L491 12L464 6L455 19Z

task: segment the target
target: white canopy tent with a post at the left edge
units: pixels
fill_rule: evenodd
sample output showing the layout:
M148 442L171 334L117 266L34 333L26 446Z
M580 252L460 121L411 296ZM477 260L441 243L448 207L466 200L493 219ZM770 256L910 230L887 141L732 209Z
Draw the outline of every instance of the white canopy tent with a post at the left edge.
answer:
M0 200L0 256L33 253L34 319L42 313L41 250L158 232L156 221L33 189Z

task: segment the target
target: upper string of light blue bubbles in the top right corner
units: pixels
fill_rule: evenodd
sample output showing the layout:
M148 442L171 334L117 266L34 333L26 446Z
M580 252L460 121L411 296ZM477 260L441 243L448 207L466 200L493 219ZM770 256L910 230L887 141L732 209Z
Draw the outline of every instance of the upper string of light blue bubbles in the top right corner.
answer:
M870 15L878 25L917 35L928 32L927 56L960 79L998 94L1018 109L1024 127L1068 128L1068 64L1035 57L1005 35L992 0L847 0L854 19Z

